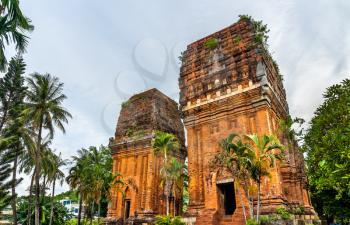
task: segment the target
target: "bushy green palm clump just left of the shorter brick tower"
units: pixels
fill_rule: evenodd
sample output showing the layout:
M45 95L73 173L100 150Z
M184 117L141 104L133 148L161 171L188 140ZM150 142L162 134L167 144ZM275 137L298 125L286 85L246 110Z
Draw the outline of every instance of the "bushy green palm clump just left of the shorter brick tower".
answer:
M105 146L82 148L78 150L78 155L72 158L73 165L66 180L72 190L79 193L79 204L82 205L84 202L89 209L93 204L97 204L98 216L106 216L110 188L124 185L121 175L112 173L110 148ZM94 213L95 211L90 212L89 218L92 218Z

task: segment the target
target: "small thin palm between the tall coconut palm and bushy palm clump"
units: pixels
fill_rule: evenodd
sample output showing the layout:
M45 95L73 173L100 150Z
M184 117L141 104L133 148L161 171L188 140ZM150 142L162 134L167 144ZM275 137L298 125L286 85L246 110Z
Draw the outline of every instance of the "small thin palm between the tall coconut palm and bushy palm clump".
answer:
M61 185L63 184L64 173L60 168L67 165L67 161L62 159L61 153L59 155L55 155L54 153L52 153L51 162L53 165L53 169L50 171L50 174L49 174L49 181L52 183L51 211L50 211L49 225L52 224L52 219L53 219L53 207L54 207L56 181L59 181Z

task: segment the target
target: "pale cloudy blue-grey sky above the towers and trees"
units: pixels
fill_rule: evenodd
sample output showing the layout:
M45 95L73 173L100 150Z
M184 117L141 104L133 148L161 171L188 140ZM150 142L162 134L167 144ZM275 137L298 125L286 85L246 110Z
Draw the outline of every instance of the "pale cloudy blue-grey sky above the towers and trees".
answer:
M178 99L178 56L190 44L249 14L268 24L269 49L284 75L292 117L309 121L325 89L350 77L348 0L30 0L20 1L35 30L27 74L64 82L73 119L52 148L70 158L106 145L121 103L156 87ZM7 55L14 55L9 48ZM18 187L25 194L29 179ZM64 184L57 192L67 191Z

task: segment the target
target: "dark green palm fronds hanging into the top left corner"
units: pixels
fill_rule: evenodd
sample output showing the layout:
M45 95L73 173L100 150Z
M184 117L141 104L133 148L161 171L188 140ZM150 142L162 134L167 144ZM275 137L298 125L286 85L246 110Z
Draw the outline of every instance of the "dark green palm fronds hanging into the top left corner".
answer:
M19 0L1 0L0 2L0 71L7 64L5 46L15 44L18 53L25 52L28 44L26 33L34 29L31 21L25 17L19 7Z

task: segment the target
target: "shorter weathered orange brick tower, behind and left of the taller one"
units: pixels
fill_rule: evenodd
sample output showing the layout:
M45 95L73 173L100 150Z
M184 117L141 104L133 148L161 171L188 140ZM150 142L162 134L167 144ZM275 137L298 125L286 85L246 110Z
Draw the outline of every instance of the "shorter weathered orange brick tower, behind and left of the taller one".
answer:
M118 221L132 223L151 222L156 214L165 214L164 191L160 186L160 168L163 159L153 154L151 141L154 131L175 134L181 148L171 153L179 161L186 157L184 127L178 104L151 89L132 96L124 102L119 115L115 138L111 138L113 172L123 176L124 196L112 188L112 201L108 208L110 224ZM176 195L177 213L182 208L182 192ZM170 198L170 212L174 211Z

